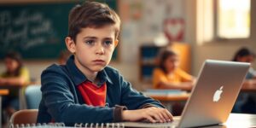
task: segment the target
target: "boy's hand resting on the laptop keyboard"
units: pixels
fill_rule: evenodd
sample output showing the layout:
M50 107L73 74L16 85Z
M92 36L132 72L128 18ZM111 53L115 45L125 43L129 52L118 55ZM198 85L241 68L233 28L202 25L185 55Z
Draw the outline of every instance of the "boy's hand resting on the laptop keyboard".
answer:
M143 108L137 110L124 110L122 118L125 121L140 121L147 119L149 122L170 122L172 121L172 114L165 108Z

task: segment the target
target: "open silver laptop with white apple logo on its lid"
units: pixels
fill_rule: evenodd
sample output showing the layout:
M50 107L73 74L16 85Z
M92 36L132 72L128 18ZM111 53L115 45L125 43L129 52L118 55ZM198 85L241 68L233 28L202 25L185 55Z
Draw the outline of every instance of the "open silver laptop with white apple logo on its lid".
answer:
M128 127L195 127L223 124L241 90L249 63L207 60L182 116L171 123L125 122Z

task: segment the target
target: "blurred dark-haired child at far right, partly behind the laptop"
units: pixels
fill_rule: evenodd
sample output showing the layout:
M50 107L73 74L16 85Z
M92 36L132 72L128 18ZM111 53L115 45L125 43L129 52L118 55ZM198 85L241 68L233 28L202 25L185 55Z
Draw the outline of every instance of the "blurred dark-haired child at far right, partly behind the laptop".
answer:
M241 61L253 63L255 59L255 54L253 51L247 48L239 49L232 61ZM256 73L253 67L250 67L244 85L256 85ZM241 92L238 96L233 113L256 113L256 95L251 93Z

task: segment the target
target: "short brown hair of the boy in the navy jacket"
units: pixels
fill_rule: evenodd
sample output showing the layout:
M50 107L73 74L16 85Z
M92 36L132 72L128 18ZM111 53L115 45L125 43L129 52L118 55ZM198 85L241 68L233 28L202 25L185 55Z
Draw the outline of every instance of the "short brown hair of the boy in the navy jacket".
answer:
M96 2L85 2L71 9L68 16L68 36L76 42L76 36L82 28L99 28L106 25L114 25L115 38L119 36L120 19L113 9L107 4Z

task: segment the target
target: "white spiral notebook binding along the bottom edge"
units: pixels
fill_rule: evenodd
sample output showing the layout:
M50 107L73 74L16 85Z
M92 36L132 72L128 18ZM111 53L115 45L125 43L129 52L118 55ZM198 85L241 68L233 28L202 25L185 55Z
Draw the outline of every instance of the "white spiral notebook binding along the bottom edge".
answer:
M19 124L9 125L9 128L65 128L64 123L43 123L43 124ZM76 123L73 127L83 128L125 128L122 123Z

